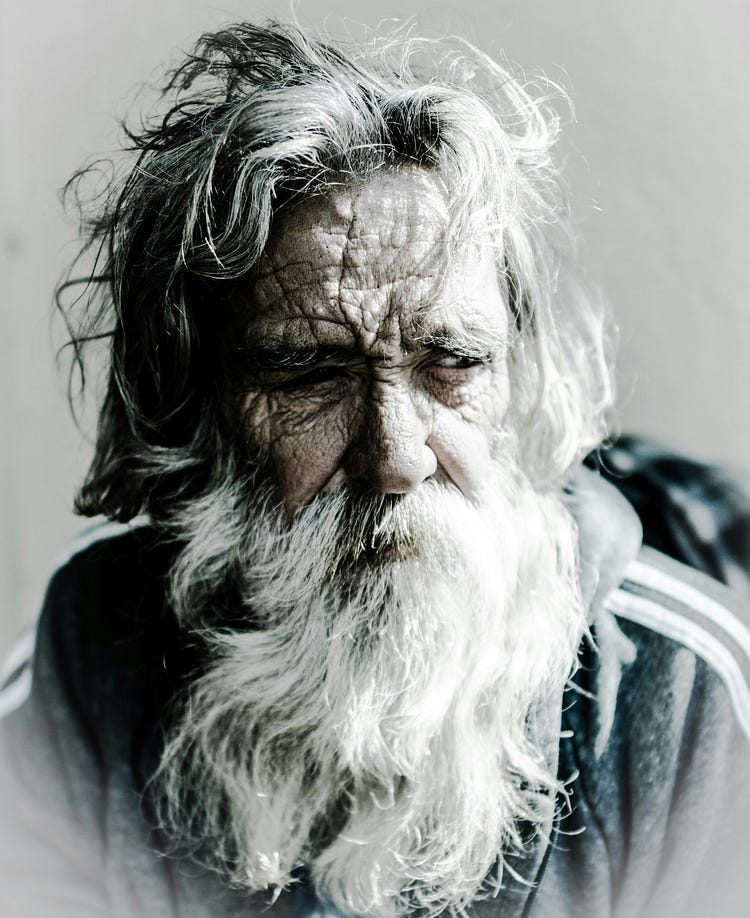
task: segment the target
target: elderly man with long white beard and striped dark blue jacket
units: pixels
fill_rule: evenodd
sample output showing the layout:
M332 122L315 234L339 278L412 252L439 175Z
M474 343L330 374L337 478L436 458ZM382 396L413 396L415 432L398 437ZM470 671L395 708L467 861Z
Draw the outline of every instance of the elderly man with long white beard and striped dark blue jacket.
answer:
M0 696L2 914L747 914L747 610L580 467L544 93L240 24L163 99L88 214L110 522Z

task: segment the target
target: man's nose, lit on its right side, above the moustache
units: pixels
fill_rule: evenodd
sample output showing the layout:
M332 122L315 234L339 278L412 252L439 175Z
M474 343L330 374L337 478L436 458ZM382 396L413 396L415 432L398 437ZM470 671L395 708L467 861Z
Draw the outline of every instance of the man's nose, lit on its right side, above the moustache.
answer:
M351 479L367 481L381 494L406 494L437 469L428 436L408 389L380 385L362 408L345 470Z

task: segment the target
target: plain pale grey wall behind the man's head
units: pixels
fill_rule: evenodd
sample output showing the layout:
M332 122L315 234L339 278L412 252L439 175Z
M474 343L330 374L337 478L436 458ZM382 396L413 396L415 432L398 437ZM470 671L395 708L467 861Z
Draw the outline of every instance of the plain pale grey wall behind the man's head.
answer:
M178 47L287 3L3 0L0 6L0 655L85 525L89 447L53 366L51 294L75 249L57 191L117 146L116 113ZM562 79L582 261L621 328L623 427L750 466L750 3L301 0L335 30L417 14ZM59 327L57 340L59 340Z

